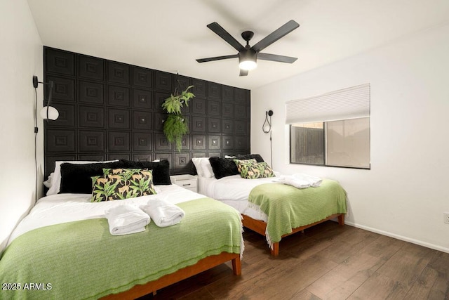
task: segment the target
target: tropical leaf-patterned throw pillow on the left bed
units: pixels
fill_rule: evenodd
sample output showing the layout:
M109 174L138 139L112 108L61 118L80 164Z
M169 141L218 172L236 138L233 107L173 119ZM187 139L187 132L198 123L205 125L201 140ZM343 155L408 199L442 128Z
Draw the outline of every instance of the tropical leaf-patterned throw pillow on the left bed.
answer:
M103 169L104 176L93 176L91 202L122 200L154 195L152 170Z

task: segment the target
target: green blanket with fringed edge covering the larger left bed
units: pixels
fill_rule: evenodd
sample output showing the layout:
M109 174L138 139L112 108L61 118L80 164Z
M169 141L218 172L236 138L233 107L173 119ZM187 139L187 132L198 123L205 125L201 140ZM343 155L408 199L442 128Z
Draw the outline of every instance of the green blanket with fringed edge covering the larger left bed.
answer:
M107 219L91 219L20 235L0 259L0 299L98 299L206 256L241 252L238 211L210 198L177 205L185 211L180 223L152 222L142 233L113 236Z

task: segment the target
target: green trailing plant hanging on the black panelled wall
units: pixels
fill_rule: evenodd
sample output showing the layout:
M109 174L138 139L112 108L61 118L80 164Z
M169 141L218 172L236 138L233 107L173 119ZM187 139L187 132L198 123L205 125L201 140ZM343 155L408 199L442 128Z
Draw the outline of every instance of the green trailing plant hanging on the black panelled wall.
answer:
M182 148L182 137L189 133L189 126L184 116L182 116L182 107L189 106L189 100L194 98L194 93L189 92L194 86L188 86L187 89L180 94L171 94L162 103L163 110L168 112L166 121L163 123L163 133L166 135L167 141L175 143L176 150Z

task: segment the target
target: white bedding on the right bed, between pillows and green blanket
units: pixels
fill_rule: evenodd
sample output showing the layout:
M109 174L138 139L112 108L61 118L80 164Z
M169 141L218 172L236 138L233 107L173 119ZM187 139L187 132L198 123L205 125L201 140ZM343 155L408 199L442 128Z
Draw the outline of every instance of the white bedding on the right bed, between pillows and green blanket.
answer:
M273 178L245 179L240 175L232 175L217 179L199 176L198 193L220 200L234 207L241 214L266 222L267 214L264 214L260 209L255 209L254 204L248 205L250 191L263 183L274 183Z

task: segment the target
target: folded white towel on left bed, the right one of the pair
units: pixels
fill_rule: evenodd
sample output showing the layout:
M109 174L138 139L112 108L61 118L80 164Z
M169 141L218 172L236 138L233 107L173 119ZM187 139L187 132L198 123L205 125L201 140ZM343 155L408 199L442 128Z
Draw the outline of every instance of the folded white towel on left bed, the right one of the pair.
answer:
M185 212L180 207L161 199L149 200L147 205L140 208L149 214L154 223L159 227L167 227L180 223L185 216Z

